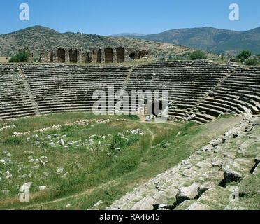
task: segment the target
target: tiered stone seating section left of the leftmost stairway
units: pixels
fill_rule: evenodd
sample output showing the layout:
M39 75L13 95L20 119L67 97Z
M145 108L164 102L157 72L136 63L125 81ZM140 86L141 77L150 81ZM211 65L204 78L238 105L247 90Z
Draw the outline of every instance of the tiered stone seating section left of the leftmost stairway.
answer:
M35 115L16 64L0 64L0 118Z

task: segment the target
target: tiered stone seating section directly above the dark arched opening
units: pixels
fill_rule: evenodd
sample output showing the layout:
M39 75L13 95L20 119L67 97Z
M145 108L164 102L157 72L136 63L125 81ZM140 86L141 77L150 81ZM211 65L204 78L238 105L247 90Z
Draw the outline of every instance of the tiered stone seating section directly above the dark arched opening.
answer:
M169 115L185 118L233 68L208 61L173 61L133 69L127 90L168 90Z

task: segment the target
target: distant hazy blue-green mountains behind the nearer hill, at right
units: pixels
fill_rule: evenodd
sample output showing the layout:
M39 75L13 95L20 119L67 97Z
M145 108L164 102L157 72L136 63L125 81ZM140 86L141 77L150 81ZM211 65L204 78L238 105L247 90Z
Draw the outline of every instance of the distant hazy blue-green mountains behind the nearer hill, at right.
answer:
M232 31L212 27L171 29L159 34L140 36L123 34L121 36L174 43L218 54L236 54L240 50L251 50L255 55L260 54L260 27L249 31Z

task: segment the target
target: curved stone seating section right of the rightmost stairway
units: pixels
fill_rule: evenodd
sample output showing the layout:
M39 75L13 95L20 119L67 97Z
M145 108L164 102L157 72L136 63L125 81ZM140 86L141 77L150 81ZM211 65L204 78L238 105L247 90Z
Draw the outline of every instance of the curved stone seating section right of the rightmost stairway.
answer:
M260 68L236 69L210 96L198 104L198 111L205 116L217 117L222 113L259 113L260 110ZM198 113L196 113L198 115ZM194 120L203 123L208 120Z

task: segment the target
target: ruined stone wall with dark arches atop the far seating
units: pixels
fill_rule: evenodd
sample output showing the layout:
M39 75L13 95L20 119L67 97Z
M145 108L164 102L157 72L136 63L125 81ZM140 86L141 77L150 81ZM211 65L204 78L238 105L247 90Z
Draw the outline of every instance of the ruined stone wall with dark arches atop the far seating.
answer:
M41 51L43 63L122 63L144 57L149 57L148 50L136 48L91 48L87 51L75 48L57 48L55 50Z

